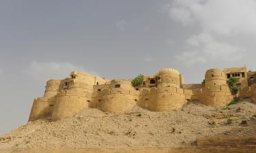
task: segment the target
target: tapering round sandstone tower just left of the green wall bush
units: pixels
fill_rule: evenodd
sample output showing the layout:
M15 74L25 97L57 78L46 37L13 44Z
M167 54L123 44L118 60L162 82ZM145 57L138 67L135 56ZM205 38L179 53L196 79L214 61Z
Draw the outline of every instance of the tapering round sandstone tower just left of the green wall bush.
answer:
M205 86L201 95L201 103L221 107L227 105L233 97L227 78L222 69L209 69L205 73Z

